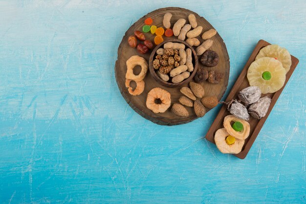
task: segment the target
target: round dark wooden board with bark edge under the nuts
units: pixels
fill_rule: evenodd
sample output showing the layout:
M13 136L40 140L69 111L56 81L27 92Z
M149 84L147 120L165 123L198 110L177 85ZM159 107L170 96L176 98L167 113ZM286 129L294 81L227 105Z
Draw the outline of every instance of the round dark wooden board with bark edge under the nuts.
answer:
M145 81L145 89L144 91L138 95L133 96L129 93L128 89L125 87L125 74L127 71L126 61L132 56L132 55L139 55L141 57L144 57L146 60L149 61L149 57L151 52L148 52L144 55L141 55L137 52L136 48L131 48L128 44L128 38L131 35L134 35L135 30L142 31L142 26L144 25L144 20L146 18L151 17L153 19L153 25L156 25L157 27L163 26L163 17L164 14L170 12L172 13L171 18L171 27L174 25L174 23L180 19L186 19L186 23L188 23L188 15L194 14L197 18L197 25L201 25L203 27L203 32L214 28L210 23L208 23L203 17L200 17L197 15L197 13L184 9L184 8L178 8L178 7L167 7L167 8L160 8L157 9L151 13L148 13L141 19L139 19L136 23L134 23L125 33L125 36L123 37L119 48L118 48L118 59L115 64L115 76L116 81L119 87L119 90L124 97L124 99L127 101L127 103L131 106L132 109L134 109L138 114L145 117L148 120L151 120L154 123L160 124L160 125L179 125L184 124L193 121L197 118L197 115L194 112L193 108L186 107L186 109L189 112L189 117L187 118L181 118L176 116L171 112L171 107L165 112L165 113L153 113L151 110L149 110L146 107L146 99L147 94L150 90L152 90L155 87L160 87L166 91L169 91L171 93L171 104L179 103L178 99L182 95L182 93L179 91L181 87L178 88L169 88L164 87L158 84L150 74L150 71L148 70L147 75L144 79ZM218 31L218 30L217 30ZM151 40L154 42L154 34L145 33L146 39ZM201 36L201 35L200 35ZM203 40L198 37L200 42L202 43ZM163 36L164 40L169 39L177 39L177 37L172 36L170 38ZM229 62L229 56L227 53L226 46L222 40L222 38L219 36L219 33L217 33L212 40L214 41L212 47L210 49L216 51L219 54L219 64L214 68L205 68L208 71L209 70L217 70L221 73L223 73L223 79L219 84L210 84L208 82L203 82L202 86L205 90L205 96L213 96L216 95L218 99L220 100L223 96L227 84L228 84L228 77L229 77L229 69L230 69L230 62ZM196 47L194 47L196 48ZM203 67L199 63L199 68ZM188 84L184 85L188 86ZM209 111L209 109L206 109L206 111ZM205 117L205 116L204 116Z

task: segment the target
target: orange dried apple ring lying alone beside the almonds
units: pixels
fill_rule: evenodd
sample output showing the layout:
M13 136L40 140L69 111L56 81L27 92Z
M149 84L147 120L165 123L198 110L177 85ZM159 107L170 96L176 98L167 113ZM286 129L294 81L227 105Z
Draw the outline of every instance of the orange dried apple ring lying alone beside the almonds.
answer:
M160 103L156 103L158 99ZM146 105L154 113L164 113L171 105L171 94L161 88L154 88L148 93Z

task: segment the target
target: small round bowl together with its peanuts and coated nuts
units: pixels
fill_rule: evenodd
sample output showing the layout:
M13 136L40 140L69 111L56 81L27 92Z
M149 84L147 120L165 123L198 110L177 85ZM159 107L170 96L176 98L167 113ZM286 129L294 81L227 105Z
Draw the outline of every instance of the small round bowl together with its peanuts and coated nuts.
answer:
M176 54L177 52L174 52L172 49L174 50L176 49L177 51L181 49L181 52L179 53L184 53L184 55L182 54L181 55L182 57L185 57L188 62L190 62L190 58L192 58L193 69L190 68L191 66L190 63L187 65L186 60L184 59L181 60L181 56L179 55L179 53ZM189 49L188 50L189 52L188 51L184 52L184 50L182 49L184 50ZM161 55L161 53L163 53L163 55ZM186 65L185 63L179 64L182 62L185 62ZM188 70L185 67L188 67ZM197 72L197 67L198 67L198 60L195 49L185 41L181 41L178 39L171 39L157 45L153 49L149 59L150 73L160 85L165 87L181 87L184 84L192 81L192 79L194 78ZM172 74L170 74L170 71L172 71ZM175 76L173 73L175 73ZM160 77L161 74L163 75L167 74L169 77ZM167 79L167 81L165 81L165 79Z

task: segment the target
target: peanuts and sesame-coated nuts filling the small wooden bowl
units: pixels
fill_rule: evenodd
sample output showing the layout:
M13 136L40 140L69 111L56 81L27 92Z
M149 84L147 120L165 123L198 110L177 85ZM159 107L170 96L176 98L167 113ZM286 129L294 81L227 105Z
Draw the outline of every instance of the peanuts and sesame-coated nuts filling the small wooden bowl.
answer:
M182 82L194 70L192 51L190 48L185 50L182 43L165 43L163 48L156 50L153 68L163 81L167 82L172 77L172 83Z

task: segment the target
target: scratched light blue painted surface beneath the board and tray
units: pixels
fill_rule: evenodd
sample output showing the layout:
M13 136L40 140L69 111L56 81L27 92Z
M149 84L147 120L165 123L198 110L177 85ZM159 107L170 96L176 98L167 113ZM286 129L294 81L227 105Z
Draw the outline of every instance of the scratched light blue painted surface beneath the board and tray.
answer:
M219 31L225 96L258 40L299 58L246 159L203 139L218 109L166 127L121 96L125 31L167 6ZM305 53L304 0L0 0L0 203L306 203Z

